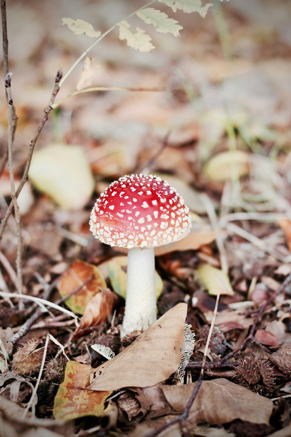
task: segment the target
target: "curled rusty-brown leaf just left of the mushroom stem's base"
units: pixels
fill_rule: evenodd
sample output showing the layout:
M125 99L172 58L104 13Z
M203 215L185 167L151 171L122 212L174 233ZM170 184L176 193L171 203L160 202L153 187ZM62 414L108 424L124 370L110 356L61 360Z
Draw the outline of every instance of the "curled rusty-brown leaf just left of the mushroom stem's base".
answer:
M99 326L112 315L118 297L109 288L103 288L87 303L80 326L75 330L73 339L85 335L91 326Z

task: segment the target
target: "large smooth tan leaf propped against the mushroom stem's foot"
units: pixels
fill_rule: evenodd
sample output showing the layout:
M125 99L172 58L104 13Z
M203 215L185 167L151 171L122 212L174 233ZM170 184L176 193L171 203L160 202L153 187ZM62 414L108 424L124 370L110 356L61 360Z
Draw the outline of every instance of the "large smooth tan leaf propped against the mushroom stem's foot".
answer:
M92 369L92 390L148 387L167 379L179 366L187 305L180 303L154 322L112 360Z

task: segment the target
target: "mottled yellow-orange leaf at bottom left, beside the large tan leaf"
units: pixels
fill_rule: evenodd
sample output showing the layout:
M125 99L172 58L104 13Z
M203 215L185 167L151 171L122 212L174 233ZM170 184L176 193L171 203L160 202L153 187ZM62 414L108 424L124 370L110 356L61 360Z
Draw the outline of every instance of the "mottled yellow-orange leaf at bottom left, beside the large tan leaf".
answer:
M104 403L112 392L84 390L89 385L91 367L68 361L65 379L55 395L55 419L72 420L83 416L100 416Z

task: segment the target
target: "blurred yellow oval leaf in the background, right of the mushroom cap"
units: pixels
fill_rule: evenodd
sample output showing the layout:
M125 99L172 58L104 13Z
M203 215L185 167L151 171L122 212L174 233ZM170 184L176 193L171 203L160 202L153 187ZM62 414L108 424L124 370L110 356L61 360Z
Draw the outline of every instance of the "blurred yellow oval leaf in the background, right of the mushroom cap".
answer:
M241 150L229 150L210 158L203 167L203 173L210 180L225 182L249 173L249 155Z

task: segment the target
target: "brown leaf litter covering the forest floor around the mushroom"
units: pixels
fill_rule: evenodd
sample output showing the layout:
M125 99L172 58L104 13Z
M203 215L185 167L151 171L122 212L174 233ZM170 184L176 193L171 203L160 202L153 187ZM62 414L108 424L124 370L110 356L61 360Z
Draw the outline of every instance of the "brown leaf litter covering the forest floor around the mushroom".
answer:
M185 411L198 384L218 289L221 296L206 351L204 381L183 426L172 425L168 435L290 434L291 70L288 32L284 33L278 18L288 17L290 6L280 1L277 14L271 14L271 2L264 6L257 2L263 11L259 17L254 5L244 8L238 2L225 3L219 5L223 7L219 11L216 4L205 5L200 0L161 0L161 12L153 4L140 11L139 21L127 18L120 22L132 7L126 0L113 1L110 14L116 14L120 39L127 45L104 38L92 53L98 55L98 75L87 57L82 73L80 68L64 85L66 92L72 92L78 77L78 89L100 84L160 86L165 80L169 84L165 93L76 96L74 103L73 99L64 103L51 118L51 126L41 133L39 148L48 155L41 158L35 177L32 166L33 191L26 208L21 208L24 291L68 305L81 318L75 329L70 317L55 309L40 312L40 320L31 319L34 302L25 301L24 312L18 310L18 300L12 296L17 291L16 234L10 219L0 253L0 288L11 292L0 302L0 411L7 435L95 432L147 436L175 420ZM94 29L106 30L104 23L109 23L106 5L100 7L98 17L92 2L86 2L84 14L75 6L62 11L57 6L50 5L51 22L44 20L46 5L38 10L30 2L21 6L21 14L34 23L34 33L47 42L39 45L34 38L18 58L15 51L11 53L14 77L21 81L14 84L15 98L19 97L17 133L22 138L16 135L14 142L17 181L26 163L25 144L35 132L34 118L38 119L45 105L43 96L48 95L48 71L52 67L57 70L59 64L67 71L68 58L74 54L77 59L87 48L82 46L82 38L96 41L100 32ZM218 14L206 15L210 9ZM178 15L182 11L198 14L190 16L189 22L187 15ZM60 29L62 34L51 31L58 29L61 13L80 17L63 20L72 32L66 26ZM10 14L13 48L25 35L13 8ZM110 21L108 27L112 24ZM155 35L155 30L160 35ZM181 38L173 38L179 33ZM141 53L134 57L128 46ZM151 50L152 54L147 54ZM24 60L21 66L18 59ZM40 81L40 74L45 80ZM1 102L4 145L4 94ZM52 164L48 169L51 151L45 145L49 144L64 148L57 160L57 152L52 153L55 171L51 171ZM71 158L75 145L79 151ZM1 156L3 150L1 146ZM122 278L114 284L113 274L104 264L108 266L120 253L92 240L89 212L111 181L143 168L163 173L182 194L192 211L193 232L178 243L157 249L157 324L149 332L132 333L121 342L126 267L119 267ZM43 181L47 174L49 179ZM7 176L5 170L1 179L8 181ZM207 194L215 216L205 207L201 194ZM1 196L3 218L4 198L10 201L7 189ZM268 214L274 216L268 218ZM183 308L179 322L171 320L168 325L167 311L177 310L175 305ZM182 385L177 385L185 322L192 325L189 329L192 339L195 333L196 347L193 353L188 351L185 375L180 371ZM9 339L25 323L28 329L12 345ZM159 324L165 338L159 334ZM44 357L49 332L64 345L70 358L67 364L57 344L51 344ZM98 350L114 351L115 357L108 361L112 354ZM130 355L134 357L131 360L127 359ZM21 419L43 359L37 396L32 399L31 412ZM155 364L147 365L149 360ZM93 378L91 385L89 378ZM58 418L66 420L65 426Z

